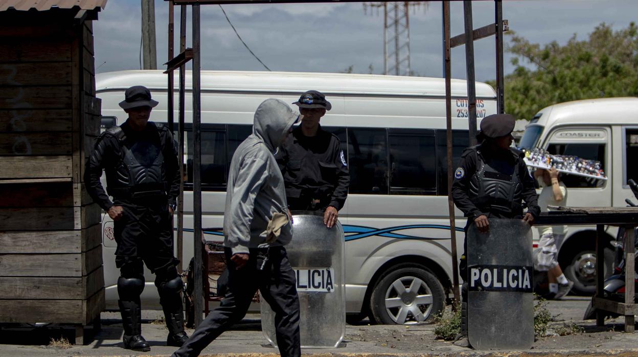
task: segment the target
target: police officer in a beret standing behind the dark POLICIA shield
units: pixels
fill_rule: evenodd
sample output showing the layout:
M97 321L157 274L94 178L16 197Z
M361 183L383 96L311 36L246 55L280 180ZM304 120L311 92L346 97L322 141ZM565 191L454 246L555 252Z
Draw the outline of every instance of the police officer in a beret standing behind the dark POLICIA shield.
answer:
M452 198L457 208L468 217L465 225L477 225L480 232L489 230L488 218L522 219L532 225L540 214L534 179L523 161L523 153L512 145L515 119L509 114L493 114L480 123L477 146L465 149L454 172ZM523 212L523 201L527 212ZM461 289L461 333L454 342L470 347L467 339L468 264L467 240L463 244L459 272Z

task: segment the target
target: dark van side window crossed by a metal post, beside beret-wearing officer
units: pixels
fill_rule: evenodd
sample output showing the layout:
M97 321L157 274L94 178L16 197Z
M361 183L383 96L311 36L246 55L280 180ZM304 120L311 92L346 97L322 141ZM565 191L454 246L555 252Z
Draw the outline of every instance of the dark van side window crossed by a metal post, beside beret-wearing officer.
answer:
M461 154L470 146L467 130L452 130L452 169L456 170ZM438 195L447 196L447 131L436 130L436 162L438 166Z

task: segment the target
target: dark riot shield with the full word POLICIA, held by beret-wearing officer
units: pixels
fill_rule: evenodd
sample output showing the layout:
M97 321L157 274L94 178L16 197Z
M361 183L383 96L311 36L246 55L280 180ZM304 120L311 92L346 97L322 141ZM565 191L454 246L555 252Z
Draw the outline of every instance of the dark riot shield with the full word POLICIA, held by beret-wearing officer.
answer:
M534 342L531 230L490 219L468 229L468 339L475 349L530 349Z

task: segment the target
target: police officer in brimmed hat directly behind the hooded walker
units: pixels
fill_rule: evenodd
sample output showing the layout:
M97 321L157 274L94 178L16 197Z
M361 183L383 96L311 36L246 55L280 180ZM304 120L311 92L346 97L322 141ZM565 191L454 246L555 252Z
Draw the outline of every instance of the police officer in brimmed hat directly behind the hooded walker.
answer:
M303 116L301 125L288 136L277 156L288 207L323 212L323 223L330 228L337 222L350 185L339 138L319 125L332 105L318 91L303 93L293 104Z

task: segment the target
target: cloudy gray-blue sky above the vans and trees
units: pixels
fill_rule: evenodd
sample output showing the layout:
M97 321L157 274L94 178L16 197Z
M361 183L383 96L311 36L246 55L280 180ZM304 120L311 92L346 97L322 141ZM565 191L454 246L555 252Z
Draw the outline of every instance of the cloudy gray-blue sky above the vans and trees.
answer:
M203 70L265 70L246 50L217 5L202 8ZM274 71L383 72L383 11L362 3L228 4L228 17L248 46ZM463 2L453 1L452 36L463 32ZM614 29L637 18L635 0L503 1L510 29L534 43L566 43L575 33L584 40L601 22ZM168 3L155 2L158 69L168 59ZM493 1L473 2L474 27L494 22ZM412 70L442 74L441 3L431 1L410 13ZM191 40L188 13L188 46ZM140 69L140 0L108 0L94 23L97 72ZM175 7L175 48L179 49L179 7ZM505 36L507 40L507 36ZM477 80L494 79L493 37L475 42ZM452 50L452 77L465 78L464 47ZM505 54L505 73L513 69Z

